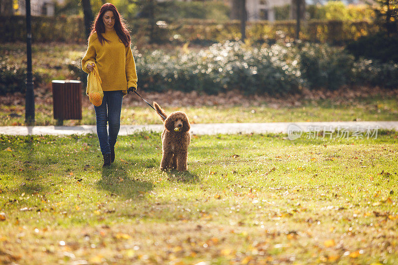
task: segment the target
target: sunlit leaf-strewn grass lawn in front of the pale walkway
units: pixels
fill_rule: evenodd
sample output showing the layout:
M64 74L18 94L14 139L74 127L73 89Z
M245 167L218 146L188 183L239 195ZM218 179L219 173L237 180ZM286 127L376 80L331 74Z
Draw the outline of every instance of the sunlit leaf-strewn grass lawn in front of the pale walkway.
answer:
M397 264L397 137L0 135L0 263Z

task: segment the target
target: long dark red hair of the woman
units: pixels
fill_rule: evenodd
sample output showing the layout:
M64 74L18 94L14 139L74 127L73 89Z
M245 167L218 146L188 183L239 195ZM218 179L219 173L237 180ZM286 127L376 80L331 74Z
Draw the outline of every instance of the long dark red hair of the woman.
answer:
M101 6L100 12L97 14L97 17L94 20L90 36L97 31L98 40L100 41L100 44L103 44L104 41L109 42L109 40L105 39L102 36L102 33L105 32L105 25L103 24L102 18L103 14L106 11L112 11L113 14L115 15L115 24L113 28L115 29L117 36L119 36L120 41L124 44L124 46L126 47L130 46L131 38L130 38L130 33L127 30L127 25L124 23L122 15L117 11L116 6L114 6L111 3L104 3Z

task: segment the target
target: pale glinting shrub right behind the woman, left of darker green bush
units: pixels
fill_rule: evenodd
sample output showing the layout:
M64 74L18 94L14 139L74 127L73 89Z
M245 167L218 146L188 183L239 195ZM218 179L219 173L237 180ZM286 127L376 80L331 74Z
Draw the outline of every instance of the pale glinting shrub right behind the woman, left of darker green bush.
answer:
M299 74L285 62L287 49L249 48L241 42L217 43L207 50L176 55L135 52L138 85L148 91L169 89L215 94L227 89L245 93L297 92ZM70 65L78 79L87 77L80 62Z

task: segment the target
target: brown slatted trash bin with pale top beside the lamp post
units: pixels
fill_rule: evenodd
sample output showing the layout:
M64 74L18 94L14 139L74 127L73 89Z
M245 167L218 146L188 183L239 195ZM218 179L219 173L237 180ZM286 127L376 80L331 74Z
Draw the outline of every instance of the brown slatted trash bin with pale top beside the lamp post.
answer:
M57 125L64 120L82 119L82 82L77 80L53 80L53 110Z

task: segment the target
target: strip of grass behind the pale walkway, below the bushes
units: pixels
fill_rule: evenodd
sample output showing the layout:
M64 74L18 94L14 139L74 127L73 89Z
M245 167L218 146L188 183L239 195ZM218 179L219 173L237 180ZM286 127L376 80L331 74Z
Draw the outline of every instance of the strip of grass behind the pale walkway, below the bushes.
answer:
M86 96L84 100L87 100ZM192 123L398 120L397 98L383 95L345 102L307 101L298 107L276 108L264 102L260 106L185 106L165 107L165 110L167 113L185 111ZM0 105L0 126L24 125L24 111L23 105ZM57 122L53 117L52 105L37 105L35 114L36 125L55 125ZM81 121L66 120L64 125L96 124L92 105L83 108L82 116ZM132 107L126 103L122 108L121 124L160 124L160 119L149 106Z

